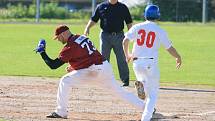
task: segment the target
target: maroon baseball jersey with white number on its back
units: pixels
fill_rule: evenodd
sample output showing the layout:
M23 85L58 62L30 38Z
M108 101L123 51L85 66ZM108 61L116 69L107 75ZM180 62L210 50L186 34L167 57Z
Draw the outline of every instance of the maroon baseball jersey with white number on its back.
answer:
M102 64L104 58L84 35L70 36L61 50L59 59L70 64L71 70L88 68L93 64Z

